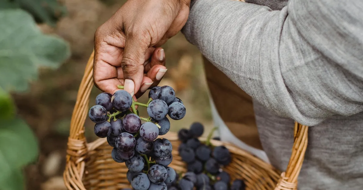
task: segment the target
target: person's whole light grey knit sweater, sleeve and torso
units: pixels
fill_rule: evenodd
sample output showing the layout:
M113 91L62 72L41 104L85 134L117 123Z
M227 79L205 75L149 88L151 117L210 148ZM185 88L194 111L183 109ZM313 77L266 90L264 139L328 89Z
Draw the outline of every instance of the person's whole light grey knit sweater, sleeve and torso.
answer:
M183 33L254 98L276 168L286 169L294 120L311 126L300 190L362 190L363 1L250 2L192 0Z

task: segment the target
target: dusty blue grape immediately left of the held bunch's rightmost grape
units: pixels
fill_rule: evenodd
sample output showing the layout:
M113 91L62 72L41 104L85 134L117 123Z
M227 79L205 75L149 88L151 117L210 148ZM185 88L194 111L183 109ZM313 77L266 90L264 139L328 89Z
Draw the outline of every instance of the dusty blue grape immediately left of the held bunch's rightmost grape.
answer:
M163 100L153 100L147 106L147 114L156 121L162 120L168 114L168 105Z

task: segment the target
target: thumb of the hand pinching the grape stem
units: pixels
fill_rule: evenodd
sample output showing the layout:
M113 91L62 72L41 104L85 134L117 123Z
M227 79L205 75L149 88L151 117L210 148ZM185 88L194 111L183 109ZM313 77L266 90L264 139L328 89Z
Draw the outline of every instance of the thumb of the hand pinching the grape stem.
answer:
M140 89L148 43L139 35L126 34L125 49L122 56L122 72L124 76L124 89L133 96Z

